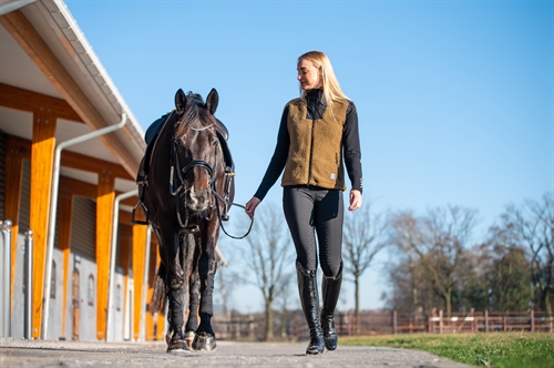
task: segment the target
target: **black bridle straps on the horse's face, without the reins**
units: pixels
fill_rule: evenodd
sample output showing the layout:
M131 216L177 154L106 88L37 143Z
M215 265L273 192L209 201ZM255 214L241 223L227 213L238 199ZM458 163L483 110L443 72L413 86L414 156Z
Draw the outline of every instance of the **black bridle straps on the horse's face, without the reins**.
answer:
M212 125L204 126L201 129L194 129L191 127L194 131L203 131L208 129ZM209 165L207 162L203 160L192 160L191 163L188 163L185 167L181 168L181 163L178 160L178 147L179 147L179 139L174 139L171 145L171 154L170 154L170 193L175 197L175 209L177 213L177 221L181 226L186 233L196 233L199 231L198 225L191 225L188 226L188 219L192 216L188 211L188 206L186 206L186 195L183 196L185 201L185 222L183 223L182 217L181 217L181 204L179 204L179 194L186 193L187 188L187 181L185 178L186 173L189 170L193 170L194 167L202 167L207 171L209 175L209 182L208 182L208 188L209 193L215 192L215 180L216 175L214 174L214 167L217 167L217 141L214 143L215 147L215 155L214 155L214 166ZM176 173L176 175L175 175ZM175 188L176 187L176 188ZM214 205L212 201L209 201L209 209L203 211L203 216L206 221L212 219L213 215L213 209Z

